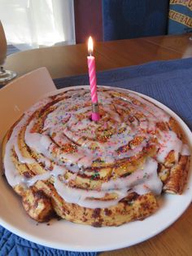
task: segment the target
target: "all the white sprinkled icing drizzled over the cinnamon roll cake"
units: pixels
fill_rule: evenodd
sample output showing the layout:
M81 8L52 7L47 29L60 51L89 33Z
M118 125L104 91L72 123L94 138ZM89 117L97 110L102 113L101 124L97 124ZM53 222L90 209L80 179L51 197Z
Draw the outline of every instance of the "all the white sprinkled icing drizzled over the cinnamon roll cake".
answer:
M68 91L65 93L66 99L62 99L62 95L57 95L55 99L61 98L61 100L52 105L53 111L47 115L41 134L32 132L37 120L33 118L28 122L28 118L51 99L41 100L24 113L6 146L4 166L8 183L12 187L20 183L30 187L38 180L53 177L55 189L63 200L93 209L116 205L129 192L137 192L139 195L153 192L159 195L162 191L162 183L157 174L158 162L164 162L168 152L172 150L176 155L189 156L190 149L172 130L158 130L155 135L152 133L157 129L158 121L167 122L170 118L162 109L133 93L115 96L119 103L114 107L114 97L111 97L111 93L112 90L107 92L98 90L100 109L103 113L98 123L89 119L91 113L89 90ZM121 114L116 112L116 108L120 113L126 113L123 120ZM38 160L24 157L20 152L17 136L23 126L26 126L24 142L37 152ZM101 135L107 136L106 140L104 138L103 141L99 141L95 136L99 130ZM142 137L141 143L129 147L129 143L137 137ZM151 139L155 138L158 139L156 160L147 158L145 165L135 170L133 174L124 178L110 179L97 191L69 187L68 183L75 180L76 175L83 174L85 168L92 166L94 161L99 159L114 164L120 159L137 156L143 148L153 145ZM74 152L65 150L68 144L73 144ZM123 150L126 146L129 150ZM46 172L29 179L21 176L11 161L13 149L21 163L29 165L35 162L41 163L45 166ZM59 179L66 171L72 173L70 178ZM116 199L98 200L110 193L116 193Z

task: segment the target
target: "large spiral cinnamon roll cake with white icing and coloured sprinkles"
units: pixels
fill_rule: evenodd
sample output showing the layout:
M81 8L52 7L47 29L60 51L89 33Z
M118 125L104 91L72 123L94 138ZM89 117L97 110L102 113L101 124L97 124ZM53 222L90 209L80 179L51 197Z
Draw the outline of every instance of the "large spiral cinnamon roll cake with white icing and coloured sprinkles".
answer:
M7 181L37 222L119 226L155 213L162 193L183 192L190 150L177 121L126 90L99 87L98 99L99 121L89 89L41 99L5 136Z

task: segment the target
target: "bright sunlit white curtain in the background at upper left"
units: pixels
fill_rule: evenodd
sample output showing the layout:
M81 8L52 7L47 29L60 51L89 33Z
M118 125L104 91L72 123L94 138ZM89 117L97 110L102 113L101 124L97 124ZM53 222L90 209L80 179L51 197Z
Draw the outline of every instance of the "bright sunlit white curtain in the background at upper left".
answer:
M7 42L28 48L75 43L71 0L1 0Z

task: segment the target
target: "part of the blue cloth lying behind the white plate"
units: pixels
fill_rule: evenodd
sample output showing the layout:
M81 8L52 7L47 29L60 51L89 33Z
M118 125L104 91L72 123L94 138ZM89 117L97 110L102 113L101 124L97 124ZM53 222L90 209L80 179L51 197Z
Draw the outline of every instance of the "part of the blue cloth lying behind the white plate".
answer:
M98 85L119 86L151 96L192 129L192 58L156 61L97 73ZM88 74L55 79L58 88L89 84Z

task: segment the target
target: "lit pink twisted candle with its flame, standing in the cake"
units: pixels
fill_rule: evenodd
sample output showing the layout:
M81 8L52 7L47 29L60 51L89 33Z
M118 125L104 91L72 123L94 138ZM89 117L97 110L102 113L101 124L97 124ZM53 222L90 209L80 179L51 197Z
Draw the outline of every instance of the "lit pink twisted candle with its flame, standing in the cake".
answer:
M92 55L94 51L94 43L91 37L88 40L88 52L89 56L87 57L88 68L89 68L89 84L90 84L90 94L92 100L92 114L91 119L93 121L98 121L100 119L98 113L98 94L97 94L97 80L95 72L95 59Z

